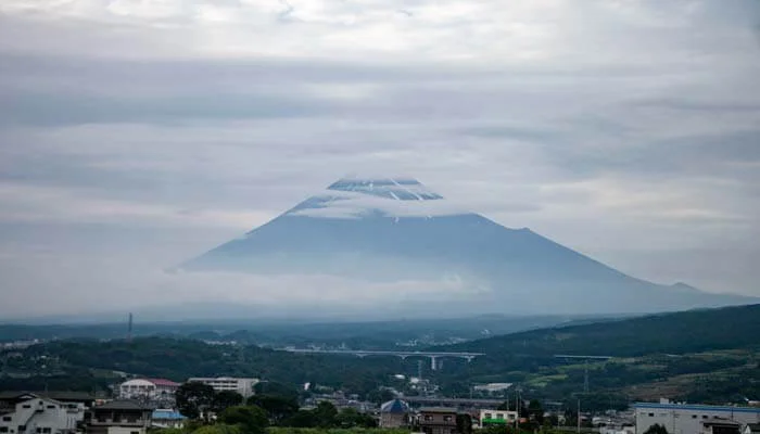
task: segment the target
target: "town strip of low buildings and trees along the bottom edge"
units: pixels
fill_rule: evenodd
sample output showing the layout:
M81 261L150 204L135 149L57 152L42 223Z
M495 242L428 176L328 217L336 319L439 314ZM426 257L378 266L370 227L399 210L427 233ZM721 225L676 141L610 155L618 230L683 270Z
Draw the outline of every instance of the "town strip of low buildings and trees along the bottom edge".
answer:
M425 434L584 432L599 434L757 434L760 403L709 406L635 403L600 412L530 399L508 383L476 386L490 398L447 398L430 382L398 374L426 391L403 396L385 388L382 403L306 383L302 393L267 387L254 378L134 378L110 396L76 392L0 393L2 434L262 433L270 429L376 429ZM270 391L271 390L271 391ZM229 430L239 431L229 431ZM200 431L203 430L203 431ZM277 431L275 431L277 432Z

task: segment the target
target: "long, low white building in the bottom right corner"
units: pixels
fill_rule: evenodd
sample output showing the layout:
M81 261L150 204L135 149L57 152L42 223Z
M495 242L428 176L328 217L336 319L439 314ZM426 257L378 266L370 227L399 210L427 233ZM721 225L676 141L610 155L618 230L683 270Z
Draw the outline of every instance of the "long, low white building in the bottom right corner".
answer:
M658 423L670 434L717 433L723 429L710 422L731 421L742 426L760 423L760 408L673 404L669 401L636 403L636 433L644 433Z

